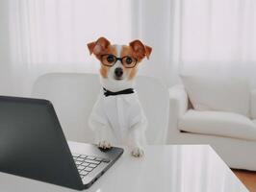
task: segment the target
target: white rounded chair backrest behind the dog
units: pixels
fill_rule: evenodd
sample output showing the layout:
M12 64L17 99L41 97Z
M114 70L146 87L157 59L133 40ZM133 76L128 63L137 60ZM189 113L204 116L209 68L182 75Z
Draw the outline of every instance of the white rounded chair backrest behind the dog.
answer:
M53 103L67 139L92 143L94 134L88 118L101 88L96 74L50 73L38 78L32 96ZM166 86L154 78L138 77L136 90L148 120L148 143L165 142L169 106Z

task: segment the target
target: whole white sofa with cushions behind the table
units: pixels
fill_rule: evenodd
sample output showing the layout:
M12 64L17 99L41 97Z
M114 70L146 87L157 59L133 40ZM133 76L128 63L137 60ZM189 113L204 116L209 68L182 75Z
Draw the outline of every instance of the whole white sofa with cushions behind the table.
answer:
M188 80L192 80L192 83ZM212 87L211 82L207 83L205 80L194 81L183 78L183 82L185 85L175 85L169 89L168 143L210 144L231 168L256 171L256 90L249 90L248 96L243 93L241 96L243 98L240 98L241 91L237 91L237 96L234 95L236 88L234 90L230 88L232 84L236 86L237 83L226 84L229 90L225 93L224 89L222 92L215 90L218 89L216 82L212 82ZM245 86L241 87L244 89ZM217 107L218 109L212 109L215 105L211 101L208 104L213 104L212 108L205 105L204 102L209 102L203 101L208 94L205 91L213 89L217 93L215 92L214 97L209 100L214 100L215 97L221 100L219 97L226 97L223 101L219 101L225 102L222 106L234 102L234 110L237 111L232 111L231 107L221 110L219 109L221 105ZM195 90L197 93L192 94ZM226 95L229 93L233 94L233 98ZM197 102L196 109L191 103L194 97L202 100L202 103L193 101L193 106Z

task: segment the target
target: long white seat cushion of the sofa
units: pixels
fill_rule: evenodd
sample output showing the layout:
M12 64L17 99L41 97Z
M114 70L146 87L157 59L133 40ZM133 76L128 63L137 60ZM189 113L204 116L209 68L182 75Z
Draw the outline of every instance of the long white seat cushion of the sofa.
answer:
M179 119L179 130L256 140L256 124L247 117L231 112L190 109Z

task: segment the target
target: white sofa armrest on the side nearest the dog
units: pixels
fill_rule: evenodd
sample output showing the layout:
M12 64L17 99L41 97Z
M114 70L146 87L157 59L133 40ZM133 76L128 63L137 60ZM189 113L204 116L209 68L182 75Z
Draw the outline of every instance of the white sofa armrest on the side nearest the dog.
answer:
M183 85L175 85L169 88L169 127L168 135L171 142L171 136L178 130L178 120L189 108L188 94ZM173 135L174 136L174 135Z

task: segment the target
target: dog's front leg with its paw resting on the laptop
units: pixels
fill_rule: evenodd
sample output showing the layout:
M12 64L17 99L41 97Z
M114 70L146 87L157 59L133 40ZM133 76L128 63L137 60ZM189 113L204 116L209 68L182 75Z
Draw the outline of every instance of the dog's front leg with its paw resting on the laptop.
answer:
M95 133L95 142L102 149L110 149L112 147L112 130L108 125L104 125L98 121L90 119L90 128Z

